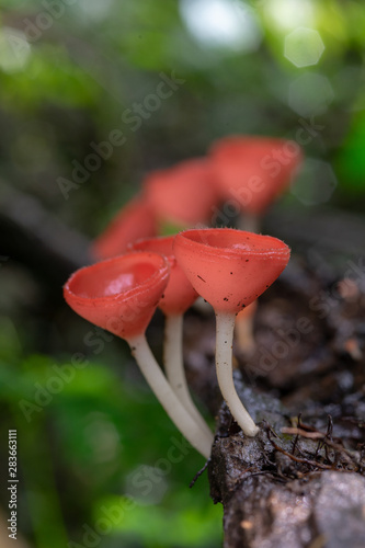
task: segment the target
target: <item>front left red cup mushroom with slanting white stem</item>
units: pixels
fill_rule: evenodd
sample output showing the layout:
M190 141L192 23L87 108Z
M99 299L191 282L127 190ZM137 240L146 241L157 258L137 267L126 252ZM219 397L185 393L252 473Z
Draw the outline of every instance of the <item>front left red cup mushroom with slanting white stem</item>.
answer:
M157 364L145 331L169 279L169 262L156 253L129 253L80 269L64 296L82 318L125 339L147 383L190 443L205 457L210 437L187 413Z

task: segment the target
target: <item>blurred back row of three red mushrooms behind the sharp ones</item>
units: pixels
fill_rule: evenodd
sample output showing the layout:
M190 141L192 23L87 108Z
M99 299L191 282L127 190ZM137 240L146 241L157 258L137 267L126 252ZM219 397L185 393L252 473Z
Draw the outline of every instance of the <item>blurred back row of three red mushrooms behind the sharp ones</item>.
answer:
M260 232L261 219L285 192L303 161L293 140L232 135L216 140L206 157L185 160L147 174L139 196L132 199L93 242L96 260L124 253L139 238L214 226L236 219L237 228ZM229 207L229 216L219 206ZM225 212L224 205L223 210ZM218 215L217 215L218 213ZM202 300L197 302L204 309ZM196 305L196 306L197 306ZM254 302L236 319L239 347L254 347Z

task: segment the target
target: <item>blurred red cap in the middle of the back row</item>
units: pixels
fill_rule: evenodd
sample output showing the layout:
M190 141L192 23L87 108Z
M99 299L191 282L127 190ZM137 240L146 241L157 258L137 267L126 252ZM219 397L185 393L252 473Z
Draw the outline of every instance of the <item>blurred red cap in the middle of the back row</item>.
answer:
M197 158L150 173L146 195L159 220L182 226L204 222L218 201L209 160Z

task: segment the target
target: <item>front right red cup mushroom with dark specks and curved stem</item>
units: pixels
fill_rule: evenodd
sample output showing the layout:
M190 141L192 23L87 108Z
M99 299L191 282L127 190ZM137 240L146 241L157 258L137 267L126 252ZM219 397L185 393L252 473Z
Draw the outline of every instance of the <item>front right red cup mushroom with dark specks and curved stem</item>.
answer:
M218 384L238 424L248 436L254 436L259 429L232 379L235 319L283 272L289 248L270 236L226 228L185 230L176 236L174 252L187 279L215 309Z

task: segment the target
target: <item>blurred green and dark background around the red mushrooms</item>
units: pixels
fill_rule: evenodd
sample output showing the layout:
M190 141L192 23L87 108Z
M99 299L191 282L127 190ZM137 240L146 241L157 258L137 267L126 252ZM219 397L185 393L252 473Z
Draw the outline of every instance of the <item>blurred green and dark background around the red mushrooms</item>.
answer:
M191 449L169 461L180 435L126 345L62 301L73 237L81 246L100 233L148 170L235 133L304 147L285 208L362 217L365 7L0 4L0 464L7 478L18 429L19 532L37 548L219 547L206 475L189 489L203 458ZM111 135L117 144L92 163ZM0 502L4 529L5 489Z

